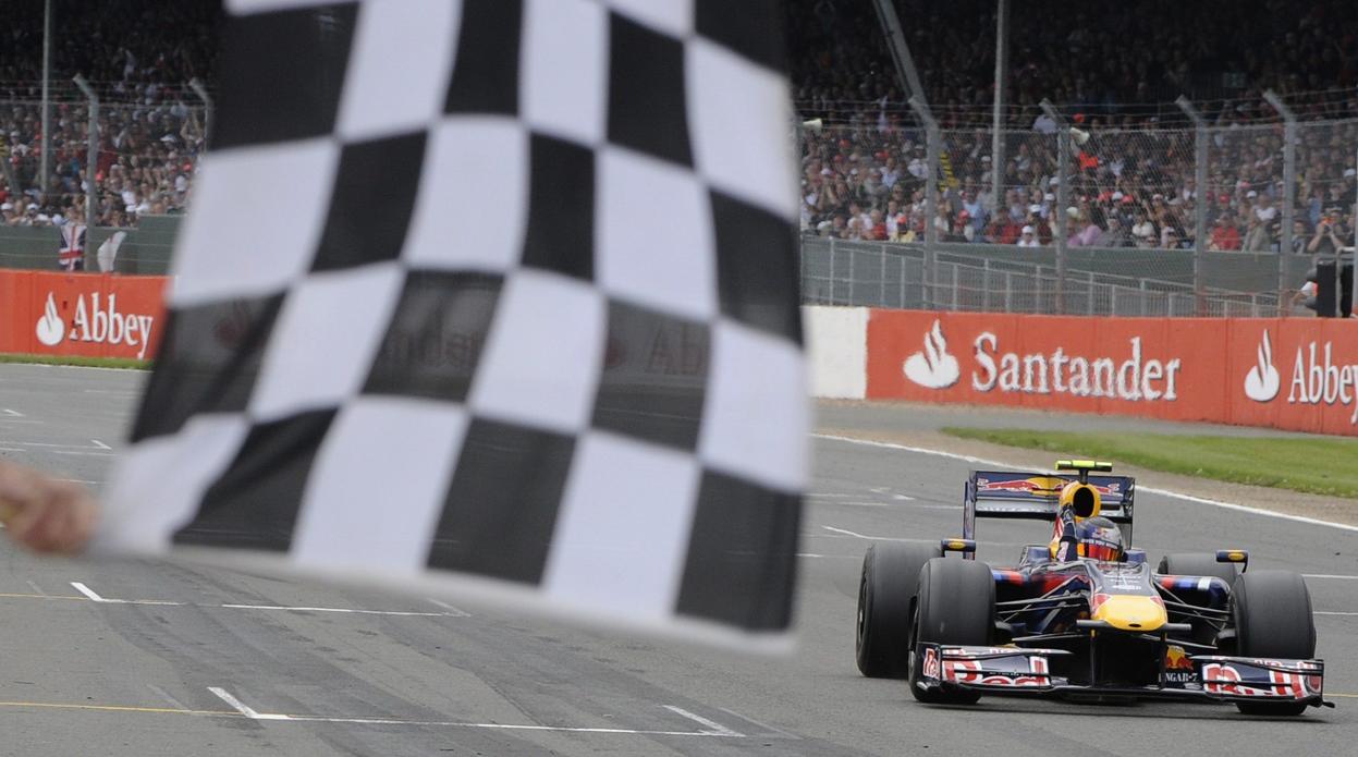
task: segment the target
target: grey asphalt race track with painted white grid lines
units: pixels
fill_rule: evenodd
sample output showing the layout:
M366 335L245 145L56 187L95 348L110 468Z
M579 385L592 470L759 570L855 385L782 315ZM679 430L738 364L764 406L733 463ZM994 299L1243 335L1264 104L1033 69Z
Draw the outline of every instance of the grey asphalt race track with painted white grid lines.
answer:
M0 454L102 481L140 381L0 366ZM579 631L418 595L170 563L41 560L0 545L0 754L1141 757L1344 754L1358 742L1358 533L1138 497L1135 541L1152 556L1244 546L1255 564L1316 576L1308 579L1316 610L1353 613L1316 617L1338 709L1256 720L1217 705L925 707L903 684L854 670L858 564L876 538L955 534L968 465L813 444L800 644L789 658ZM1038 523L985 522L980 556L1008 560L1044 535ZM353 609L372 613L333 612Z

